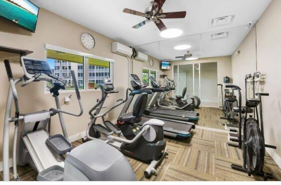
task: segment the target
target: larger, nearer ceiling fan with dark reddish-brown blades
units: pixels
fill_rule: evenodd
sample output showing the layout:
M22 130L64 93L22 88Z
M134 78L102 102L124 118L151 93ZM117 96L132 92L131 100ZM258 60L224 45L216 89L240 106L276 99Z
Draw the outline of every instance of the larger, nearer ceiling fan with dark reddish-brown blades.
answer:
M154 22L160 31L167 29L165 24L162 22L162 18L185 18L186 11L177 11L177 12L167 12L163 13L162 6L165 0L154 0L150 2L150 6L146 8L145 13L135 11L132 9L125 8L123 12L138 15L145 17L146 20L141 23L133 26L133 28L140 28L147 24L148 22Z

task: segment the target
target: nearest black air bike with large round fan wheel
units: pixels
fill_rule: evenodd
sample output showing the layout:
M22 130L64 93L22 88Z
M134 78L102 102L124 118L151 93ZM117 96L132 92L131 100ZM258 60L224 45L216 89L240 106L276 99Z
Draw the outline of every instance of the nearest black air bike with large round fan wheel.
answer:
M261 176L265 181L267 181L268 178L274 178L272 174L264 171L264 160L266 155L265 148L277 148L276 146L265 144L262 96L269 96L269 93L256 93L259 98L248 98L246 100L245 116L242 116L243 108L241 105L241 89L238 86L233 85L227 85L226 88L237 89L239 96L238 145L233 143L229 143L229 145L239 147L239 149L242 149L243 151L243 166L232 164L231 167L233 169L248 173L248 176L251 176L251 174ZM260 113L258 113L259 104ZM253 117L247 117L249 108L254 108L256 110L257 119Z

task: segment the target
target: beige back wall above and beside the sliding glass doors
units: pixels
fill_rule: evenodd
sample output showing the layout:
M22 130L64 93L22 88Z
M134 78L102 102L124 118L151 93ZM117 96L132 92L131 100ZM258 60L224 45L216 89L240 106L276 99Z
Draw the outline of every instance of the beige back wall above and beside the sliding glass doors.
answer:
M231 56L223 57L212 57L212 58L203 58L194 61L174 61L172 62L172 68L169 71L165 71L164 74L168 75L169 78L173 78L173 66L175 65L184 65L184 64L198 64L198 63L218 63L218 84L224 84L224 77L228 76L232 78L232 69L231 69ZM218 99L221 100L221 90L218 89ZM221 101L220 101L221 103Z

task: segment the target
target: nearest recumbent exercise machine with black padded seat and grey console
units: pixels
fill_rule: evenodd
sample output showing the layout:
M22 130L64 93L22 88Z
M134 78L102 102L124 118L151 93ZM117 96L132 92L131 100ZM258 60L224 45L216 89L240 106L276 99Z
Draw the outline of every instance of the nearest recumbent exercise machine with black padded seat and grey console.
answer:
M116 105L105 110L104 113L100 113L107 95L118 93L118 91L114 90L110 78L104 78L104 86L98 85L95 89L98 88L101 89L101 99L89 111L91 121L86 131L87 138L90 140L101 139L127 156L150 163L144 171L146 178L149 178L151 174L156 174L156 168L168 155L163 131L164 122L158 119L150 119L142 126L137 124L141 121L142 114L146 108L148 98L146 92L152 92L150 90L140 90L142 92L135 100L133 111L120 115L118 118L119 127L117 127L112 122L106 121L104 116L114 108L125 103L128 100L128 95L131 95L133 92L128 94L131 90L127 89L125 100L117 100L118 103ZM93 113L94 110L95 112ZM102 118L104 125L96 124L96 120L99 117ZM118 137L114 136L114 134Z

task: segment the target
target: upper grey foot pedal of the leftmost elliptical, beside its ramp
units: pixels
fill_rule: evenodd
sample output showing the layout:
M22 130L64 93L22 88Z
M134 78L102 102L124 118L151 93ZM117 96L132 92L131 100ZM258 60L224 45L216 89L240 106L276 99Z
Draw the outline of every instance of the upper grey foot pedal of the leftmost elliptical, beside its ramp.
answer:
M71 150L71 143L61 134L50 136L46 139L46 144L51 147L57 154L66 154Z

